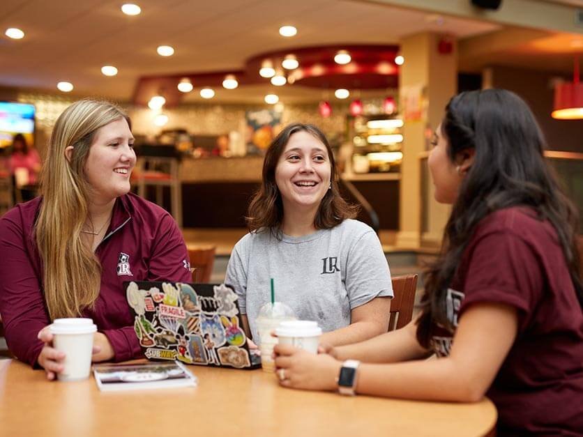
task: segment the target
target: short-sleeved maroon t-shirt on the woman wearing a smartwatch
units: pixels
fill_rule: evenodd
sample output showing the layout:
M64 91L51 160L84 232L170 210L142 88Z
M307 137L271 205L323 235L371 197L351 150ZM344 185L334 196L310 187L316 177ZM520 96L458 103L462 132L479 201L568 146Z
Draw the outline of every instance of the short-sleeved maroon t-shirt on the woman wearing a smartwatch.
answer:
M552 225L527 208L485 217L446 298L453 325L474 303L517 309L517 337L487 392L499 433L582 435L583 314ZM434 327L437 355L448 355L452 335Z

